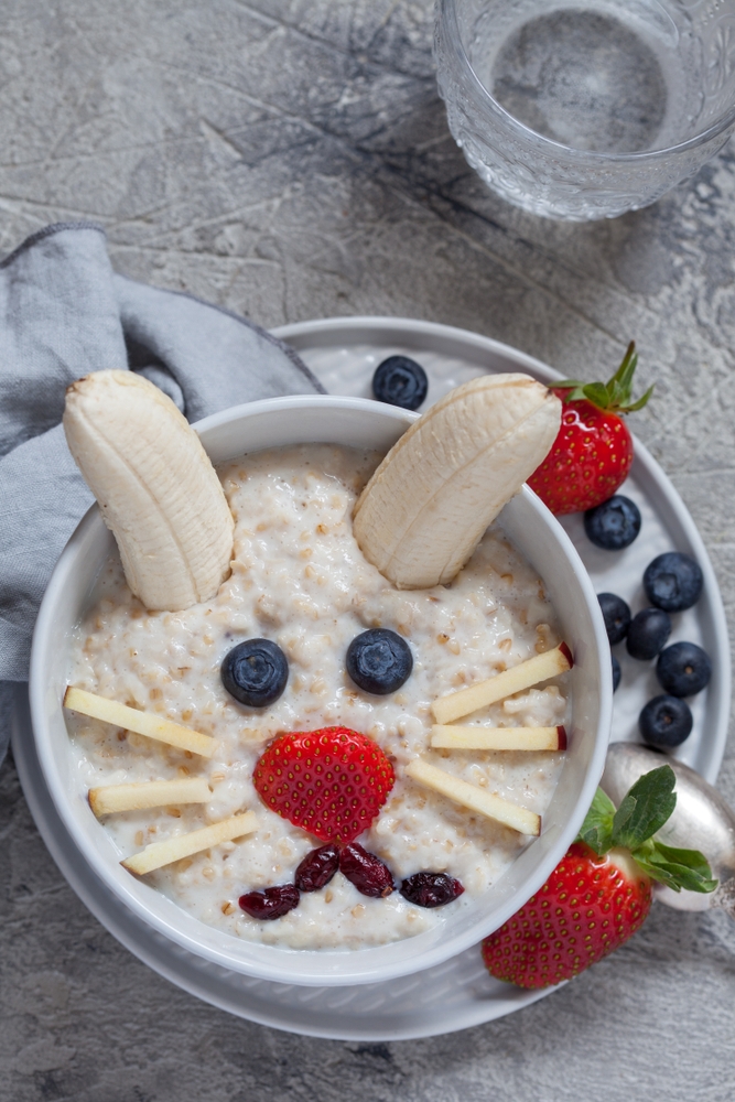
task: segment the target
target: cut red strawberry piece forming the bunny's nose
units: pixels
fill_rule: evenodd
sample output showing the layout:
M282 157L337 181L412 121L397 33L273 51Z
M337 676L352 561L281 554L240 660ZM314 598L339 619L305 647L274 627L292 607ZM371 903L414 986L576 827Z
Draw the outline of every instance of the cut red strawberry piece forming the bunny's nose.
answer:
M323 842L347 845L367 830L393 787L377 743L348 727L279 735L252 775L266 807Z

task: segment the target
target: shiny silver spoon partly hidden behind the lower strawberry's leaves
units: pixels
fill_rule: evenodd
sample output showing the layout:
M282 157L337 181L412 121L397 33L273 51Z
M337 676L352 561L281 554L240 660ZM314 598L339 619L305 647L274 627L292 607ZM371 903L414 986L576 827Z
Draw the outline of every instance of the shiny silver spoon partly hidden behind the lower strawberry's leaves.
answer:
M709 910L722 907L735 918L735 811L720 792L688 765L633 743L613 743L607 750L601 787L616 807L642 774L670 765L677 775L677 807L658 832L666 845L700 850L720 880L707 895L673 892L655 884L656 898L677 910Z

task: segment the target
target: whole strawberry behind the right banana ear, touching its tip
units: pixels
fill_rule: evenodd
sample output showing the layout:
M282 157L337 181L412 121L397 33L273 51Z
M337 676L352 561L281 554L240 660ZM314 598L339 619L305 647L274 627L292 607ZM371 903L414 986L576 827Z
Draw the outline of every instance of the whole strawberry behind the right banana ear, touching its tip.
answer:
M528 484L558 516L601 505L628 475L633 440L619 414L642 409L653 392L650 387L637 402L630 401L635 347L631 341L608 382L565 379L551 388L564 403L561 429Z

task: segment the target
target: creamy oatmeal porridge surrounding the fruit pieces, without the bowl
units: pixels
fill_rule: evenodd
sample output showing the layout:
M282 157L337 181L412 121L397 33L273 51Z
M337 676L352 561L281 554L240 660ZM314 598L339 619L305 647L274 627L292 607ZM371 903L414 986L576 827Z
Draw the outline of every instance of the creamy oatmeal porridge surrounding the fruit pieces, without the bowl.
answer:
M247 892L292 883L320 844L268 810L252 784L256 761L280 732L344 725L375 739L396 784L360 845L385 861L397 882L446 872L465 895L484 893L527 844L526 836L475 814L403 776L422 756L461 779L543 813L563 755L432 750L437 698L517 666L560 641L536 572L494 525L448 586L398 591L363 557L352 510L378 462L375 453L331 445L277 449L224 464L218 474L235 517L233 572L207 603L151 613L128 588L117 557L77 629L71 682L158 713L217 739L210 760L68 713L79 788L204 777L205 804L109 815L104 829L121 857L242 811L259 827L241 841L160 868L149 883L202 921L235 937L295 949L357 949L419 933L445 917L398 892L367 898L342 874L304 894L274 922L238 907ZM413 669L385 696L359 690L346 671L349 644L369 628L390 628L409 645ZM224 689L223 659L246 639L284 652L283 694L263 709L238 704ZM564 678L491 704L472 724L554 726L564 722Z

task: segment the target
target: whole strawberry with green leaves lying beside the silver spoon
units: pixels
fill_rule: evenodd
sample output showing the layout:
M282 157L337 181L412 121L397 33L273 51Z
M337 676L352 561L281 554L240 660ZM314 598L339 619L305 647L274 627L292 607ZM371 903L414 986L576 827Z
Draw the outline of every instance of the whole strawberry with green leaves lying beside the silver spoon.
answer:
M698 850L653 836L677 804L671 766L652 769L617 811L597 789L576 841L543 887L483 941L491 975L520 987L573 979L639 929L652 879L675 892L714 892L717 882Z

